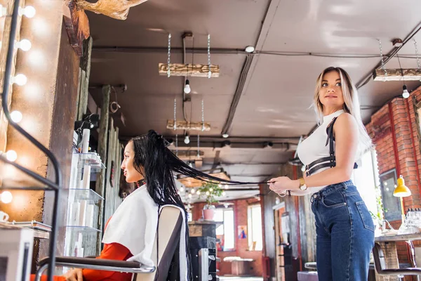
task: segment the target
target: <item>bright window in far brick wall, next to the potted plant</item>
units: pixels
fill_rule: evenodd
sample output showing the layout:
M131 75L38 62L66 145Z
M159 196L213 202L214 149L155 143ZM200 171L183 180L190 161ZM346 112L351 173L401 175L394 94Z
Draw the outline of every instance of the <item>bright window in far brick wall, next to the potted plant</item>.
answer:
M215 209L214 221L222 223L216 228L216 236L221 240L222 251L234 249L234 210L233 209Z

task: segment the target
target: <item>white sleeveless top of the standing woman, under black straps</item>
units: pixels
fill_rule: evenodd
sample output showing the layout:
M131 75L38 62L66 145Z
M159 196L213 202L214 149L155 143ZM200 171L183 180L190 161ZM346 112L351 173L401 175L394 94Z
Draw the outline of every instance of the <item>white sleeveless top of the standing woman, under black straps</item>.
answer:
M317 159L330 156L329 145L326 145L326 140L328 138L326 129L328 128L333 118L338 117L343 112L344 110L338 110L337 112L333 112L331 115L324 116L323 123L319 126L319 128L314 130L314 132L308 138L306 138L304 141L302 141L302 143L300 143L300 145L298 145L297 153L302 164L307 166ZM325 171L326 169L330 169L330 167L321 168L315 171L314 174ZM308 188L308 190L309 193L314 193L324 187L326 187L326 185Z

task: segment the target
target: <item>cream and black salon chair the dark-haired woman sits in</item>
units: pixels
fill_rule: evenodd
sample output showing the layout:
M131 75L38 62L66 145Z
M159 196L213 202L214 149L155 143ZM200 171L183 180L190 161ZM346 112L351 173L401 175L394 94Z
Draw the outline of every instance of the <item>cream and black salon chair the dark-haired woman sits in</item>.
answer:
M107 259L77 258L69 256L58 256L55 259L55 266L70 268L89 268L98 270L118 271L133 273L136 281L164 281L180 280L178 266L171 266L178 262L178 247L180 244L180 232L182 227L182 214L180 209L175 207L163 207L159 216L158 240L159 249L152 251L152 261L158 264L158 268L144 266L135 261L114 261ZM188 230L187 230L188 231ZM158 251L158 253L156 253ZM159 260L159 262L156 261ZM49 258L39 261L39 268L36 271L35 281L41 280L41 275L48 268ZM156 270L157 269L157 270ZM170 278L168 274L171 274ZM156 275L156 276L155 276Z

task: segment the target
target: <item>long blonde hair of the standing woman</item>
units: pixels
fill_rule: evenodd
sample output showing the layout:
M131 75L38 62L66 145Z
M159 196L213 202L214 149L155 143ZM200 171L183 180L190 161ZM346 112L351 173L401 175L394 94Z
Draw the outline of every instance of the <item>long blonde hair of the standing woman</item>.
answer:
M361 119L360 103L358 98L358 92L354 84L352 83L351 77L349 74L340 67L328 67L321 72L316 81L316 90L314 91L314 110L319 121L319 124L323 122L323 105L320 102L320 89L323 80L324 74L328 72L336 71L340 76L340 81L342 84L342 95L344 98L343 110L352 115L356 124L358 125L359 131L359 143L357 148L356 159L360 159L364 152L370 150L373 147L370 136L366 131L366 127L363 124Z

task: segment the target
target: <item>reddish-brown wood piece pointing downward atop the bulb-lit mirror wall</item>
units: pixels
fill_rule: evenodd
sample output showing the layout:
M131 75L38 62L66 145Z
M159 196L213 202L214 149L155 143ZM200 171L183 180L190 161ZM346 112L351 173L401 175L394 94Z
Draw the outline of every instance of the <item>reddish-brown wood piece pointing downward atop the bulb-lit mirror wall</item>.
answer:
M63 1L63 20L70 45L79 57L83 55L83 40L91 34L88 16L76 7L76 0Z

